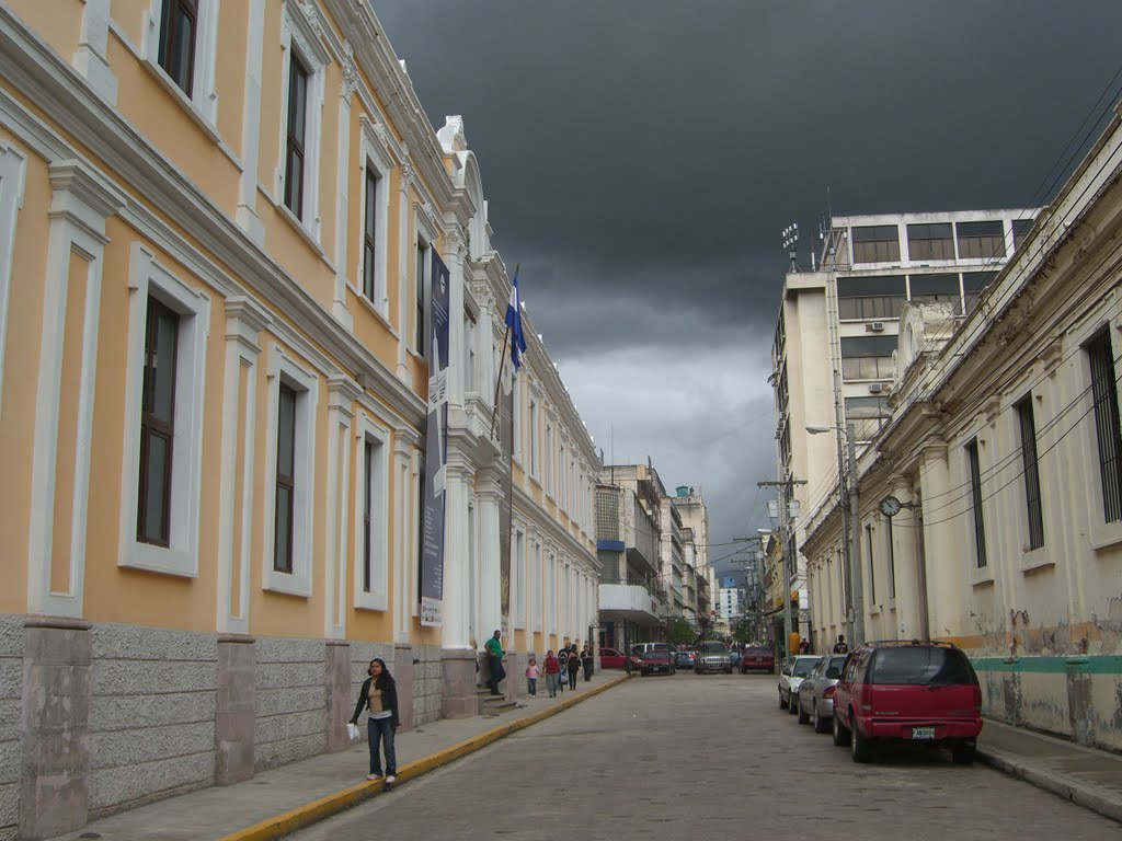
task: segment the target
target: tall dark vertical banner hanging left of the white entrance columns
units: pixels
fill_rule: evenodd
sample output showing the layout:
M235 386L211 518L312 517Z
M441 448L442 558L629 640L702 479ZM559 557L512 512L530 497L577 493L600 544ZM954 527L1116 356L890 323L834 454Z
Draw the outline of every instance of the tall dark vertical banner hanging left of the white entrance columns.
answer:
M432 250L429 295L429 431L425 436L421 625L439 627L444 601L444 484L448 464L449 271Z

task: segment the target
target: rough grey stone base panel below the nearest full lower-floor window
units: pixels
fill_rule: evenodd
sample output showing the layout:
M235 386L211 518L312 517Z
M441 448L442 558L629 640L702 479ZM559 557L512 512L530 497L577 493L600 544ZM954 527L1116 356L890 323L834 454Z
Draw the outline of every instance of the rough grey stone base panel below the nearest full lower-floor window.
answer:
M90 632L90 819L213 785L217 637Z

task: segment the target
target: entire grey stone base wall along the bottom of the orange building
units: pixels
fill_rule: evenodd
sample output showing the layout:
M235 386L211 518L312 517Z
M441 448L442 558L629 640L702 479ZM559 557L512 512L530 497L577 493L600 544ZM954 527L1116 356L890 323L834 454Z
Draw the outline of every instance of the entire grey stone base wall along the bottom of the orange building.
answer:
M0 841L339 750L375 657L403 726L442 717L450 665L457 715L475 714L470 651L0 614ZM524 660L511 663L518 694Z

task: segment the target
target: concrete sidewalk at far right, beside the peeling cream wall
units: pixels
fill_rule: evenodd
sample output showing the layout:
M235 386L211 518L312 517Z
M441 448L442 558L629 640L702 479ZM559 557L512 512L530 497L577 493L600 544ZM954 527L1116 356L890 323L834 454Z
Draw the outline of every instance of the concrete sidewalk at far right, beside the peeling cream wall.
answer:
M1122 756L987 719L978 738L978 758L1122 822Z

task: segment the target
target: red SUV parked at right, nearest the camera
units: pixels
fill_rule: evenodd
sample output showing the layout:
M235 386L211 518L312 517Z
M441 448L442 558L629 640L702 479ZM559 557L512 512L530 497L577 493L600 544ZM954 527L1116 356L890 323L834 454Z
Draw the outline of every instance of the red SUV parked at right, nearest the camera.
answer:
M845 662L834 691L834 743L849 746L855 763L892 739L942 745L969 765L980 732L978 678L950 643L866 643Z

